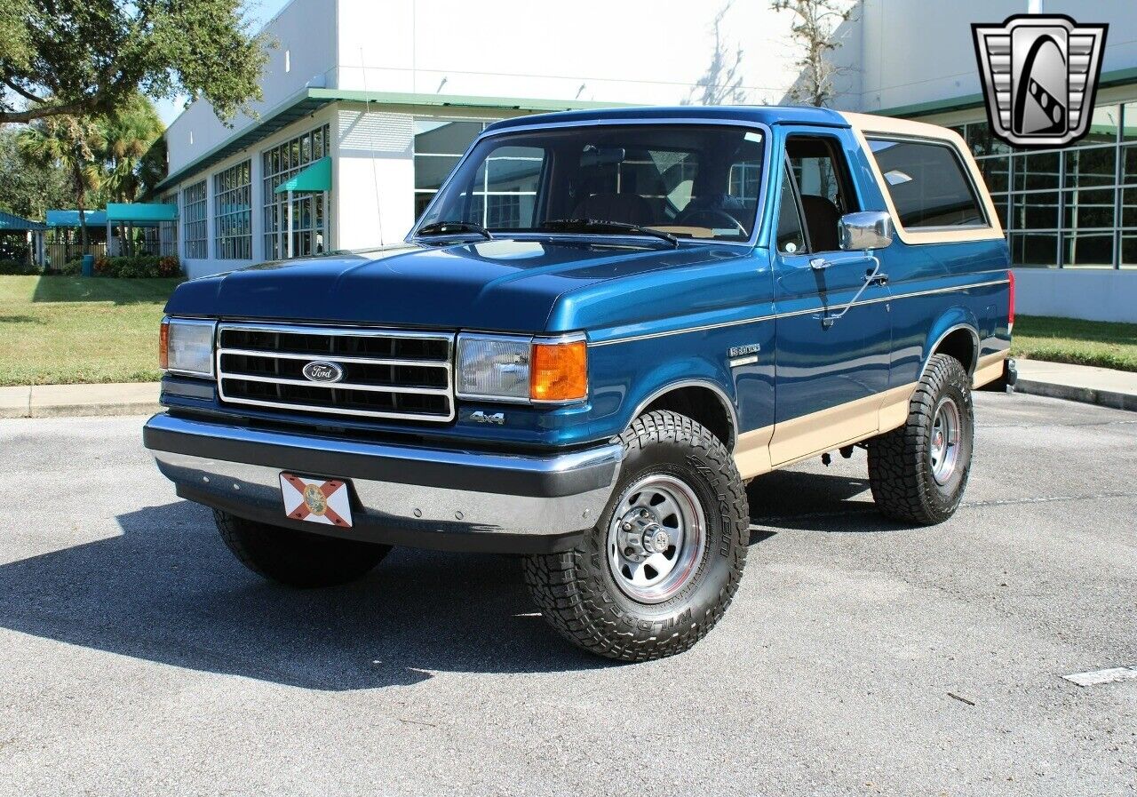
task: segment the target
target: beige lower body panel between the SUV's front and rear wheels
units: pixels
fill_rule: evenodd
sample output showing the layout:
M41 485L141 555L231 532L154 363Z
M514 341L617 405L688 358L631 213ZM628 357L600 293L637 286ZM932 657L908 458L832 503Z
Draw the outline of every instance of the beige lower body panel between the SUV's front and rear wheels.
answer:
M738 435L735 464L742 479L852 446L904 424L916 382Z

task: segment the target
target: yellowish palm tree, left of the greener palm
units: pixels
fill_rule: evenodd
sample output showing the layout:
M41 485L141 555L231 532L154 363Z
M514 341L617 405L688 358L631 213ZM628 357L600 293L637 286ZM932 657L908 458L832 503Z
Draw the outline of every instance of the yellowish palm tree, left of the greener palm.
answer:
M78 208L80 241L86 252L86 199L102 184L101 125L80 116L49 116L20 131L16 146L24 157L57 165L67 175Z

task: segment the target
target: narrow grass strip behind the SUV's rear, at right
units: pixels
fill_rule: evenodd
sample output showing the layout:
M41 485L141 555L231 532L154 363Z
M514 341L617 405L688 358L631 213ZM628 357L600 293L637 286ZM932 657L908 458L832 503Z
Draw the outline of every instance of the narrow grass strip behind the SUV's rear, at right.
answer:
M1027 359L1137 371L1137 324L1016 316L1011 354Z

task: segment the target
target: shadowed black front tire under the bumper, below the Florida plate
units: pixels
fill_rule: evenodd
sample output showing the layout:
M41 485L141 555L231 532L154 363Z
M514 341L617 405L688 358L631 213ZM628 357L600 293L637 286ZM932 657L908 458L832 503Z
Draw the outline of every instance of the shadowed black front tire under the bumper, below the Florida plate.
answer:
M258 575L289 587L334 587L364 576L391 546L308 534L214 510L225 546Z

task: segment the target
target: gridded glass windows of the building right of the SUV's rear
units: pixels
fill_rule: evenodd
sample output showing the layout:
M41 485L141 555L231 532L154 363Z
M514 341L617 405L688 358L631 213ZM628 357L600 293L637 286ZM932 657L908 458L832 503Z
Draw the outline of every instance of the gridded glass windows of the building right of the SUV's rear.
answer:
M971 148L1016 266L1137 268L1137 102L1099 105L1089 133L1022 151L987 122L954 127Z

